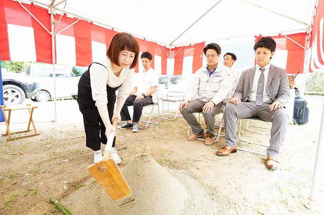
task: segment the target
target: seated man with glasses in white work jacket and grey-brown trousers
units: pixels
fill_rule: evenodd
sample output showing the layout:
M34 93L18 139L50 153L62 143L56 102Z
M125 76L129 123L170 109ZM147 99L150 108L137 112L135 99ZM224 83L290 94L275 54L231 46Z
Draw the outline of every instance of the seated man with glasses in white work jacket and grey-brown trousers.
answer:
M205 137L205 131L193 115L193 113L203 112L207 125L205 145L212 145L215 140L215 115L224 109L226 96L231 88L231 76L230 68L218 63L221 54L219 45L208 44L204 48L204 54L207 66L201 67L194 73L179 110L192 128L193 134L187 138L188 141Z

